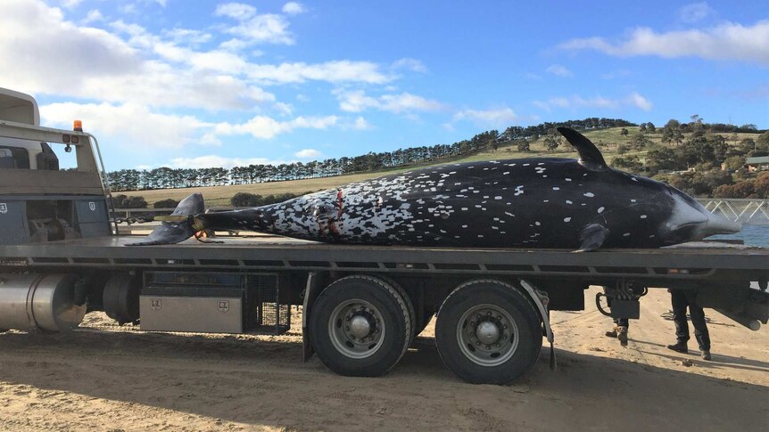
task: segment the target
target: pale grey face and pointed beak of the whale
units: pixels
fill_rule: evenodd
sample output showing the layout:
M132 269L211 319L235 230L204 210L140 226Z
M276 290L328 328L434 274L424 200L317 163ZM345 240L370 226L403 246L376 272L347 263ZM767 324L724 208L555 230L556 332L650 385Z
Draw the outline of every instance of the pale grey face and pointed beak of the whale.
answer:
M666 185L666 192L674 202L673 211L665 222L668 241L680 243L702 240L711 235L733 234L742 229L741 224L710 213L697 200L673 186Z

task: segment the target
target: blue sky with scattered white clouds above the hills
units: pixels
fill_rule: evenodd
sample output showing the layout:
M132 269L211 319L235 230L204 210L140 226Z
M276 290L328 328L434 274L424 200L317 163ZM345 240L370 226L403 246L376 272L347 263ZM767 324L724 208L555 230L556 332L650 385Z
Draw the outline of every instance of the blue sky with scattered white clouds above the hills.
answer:
M233 167L607 117L769 128L769 1L0 0L0 87L108 170Z

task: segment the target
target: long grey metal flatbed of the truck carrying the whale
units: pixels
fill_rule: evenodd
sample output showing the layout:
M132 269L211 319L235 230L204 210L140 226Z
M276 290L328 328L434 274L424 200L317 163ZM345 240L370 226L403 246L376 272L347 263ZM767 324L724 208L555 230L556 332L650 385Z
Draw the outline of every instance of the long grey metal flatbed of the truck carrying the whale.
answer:
M0 267L223 268L397 273L489 273L521 277L564 275L598 283L645 280L765 281L769 249L698 242L665 249L456 249L351 246L256 235L127 246L139 236L0 246ZM662 285L664 286L664 285Z

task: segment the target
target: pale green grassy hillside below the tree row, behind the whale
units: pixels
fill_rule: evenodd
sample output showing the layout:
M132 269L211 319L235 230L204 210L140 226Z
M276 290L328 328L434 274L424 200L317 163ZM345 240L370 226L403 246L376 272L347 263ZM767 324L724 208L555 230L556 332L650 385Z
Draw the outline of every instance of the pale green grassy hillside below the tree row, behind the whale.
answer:
M590 138L590 140L593 143L596 143L599 146L600 151L603 153L604 159L607 160L608 163L611 163L611 160L619 156L619 153L617 152L617 147L620 144L626 144L629 143L630 138L633 136L633 134L638 133L637 127L628 127L628 131L630 134L627 136L623 136L621 134L622 127L612 127L608 129L601 129L601 130L595 130L595 131L589 131L585 133L585 136ZM666 145L662 143L662 132L661 130L654 134L646 134L647 138L651 140L655 144L659 145ZM730 145L734 145L736 143L739 143L740 140L747 137L756 138L757 134L737 134L737 139L732 140L732 134L724 134L724 136L727 138L727 142ZM688 138L688 134L686 134L686 137ZM531 158L531 157L557 157L557 158L573 158L575 159L577 157L576 151L573 151L573 148L566 143L566 140L562 140L563 144L558 147L557 151L547 151L545 149L544 141L541 139L531 143L531 151L517 151L517 148L514 144L507 145L507 146L500 146L500 148L497 151L481 151L478 153L475 153L473 155L464 157L464 158L458 158L458 159L451 159L451 162L472 162L472 161L478 161L478 160L494 160L494 159L517 159L517 158ZM638 155L639 158L643 159L644 155L647 151L629 151L624 154L624 156L627 155ZM247 155L247 156L258 156L258 155ZM441 161L435 161L432 164L420 164L420 166L435 166L435 165L442 165L443 163L446 163L445 160ZM312 179L306 179L306 180L291 180L291 181L285 181L285 182L270 182L270 183L254 183L254 184L239 184L239 185L229 185L229 186L210 186L210 187L195 187L195 188L181 188L181 189L158 189L158 190L152 190L152 191L130 191L130 192L115 192L115 193L125 193L129 196L142 196L145 198L147 203L152 207L153 203L155 201L159 200L166 200L166 199L173 199L173 200L181 200L185 198L187 195L194 193L194 192L201 192L203 193L203 199L206 202L207 207L228 207L230 205L230 198L232 198L233 195L235 195L237 192L249 192L249 193L255 193L259 195L270 195L270 194L277 194L277 193L284 193L284 192L291 192L291 193L304 193L304 192L316 192L316 191L322 191L325 189L331 189L335 188L336 186L347 184L347 183L355 183L360 182L363 180L368 180L369 178L375 178L380 175L387 175L387 174L393 174L397 172L402 171L408 171L409 169L413 169L416 166L411 167L402 167L398 169L393 169L390 171L379 171L379 172L371 172L371 173L360 173L360 174L354 174L354 175L339 175L335 177L322 177L322 178L312 178Z

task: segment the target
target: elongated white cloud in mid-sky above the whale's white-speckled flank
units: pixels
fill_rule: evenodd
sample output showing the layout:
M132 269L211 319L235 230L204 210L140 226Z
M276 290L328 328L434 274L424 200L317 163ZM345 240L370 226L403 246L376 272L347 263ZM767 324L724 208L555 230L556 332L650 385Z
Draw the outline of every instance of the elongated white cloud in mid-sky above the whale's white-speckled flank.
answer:
M369 108L375 108L376 110L401 113L409 111L434 111L444 108L441 102L408 92L383 94L378 98L367 96L362 90L351 92L336 91L335 94L339 100L339 108L349 112L360 112Z

